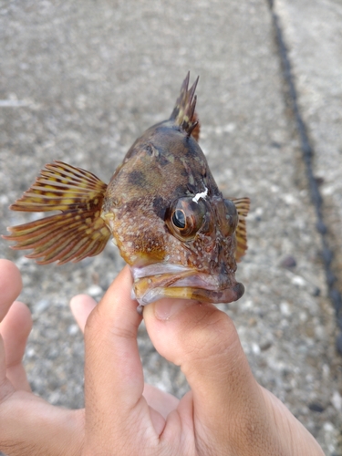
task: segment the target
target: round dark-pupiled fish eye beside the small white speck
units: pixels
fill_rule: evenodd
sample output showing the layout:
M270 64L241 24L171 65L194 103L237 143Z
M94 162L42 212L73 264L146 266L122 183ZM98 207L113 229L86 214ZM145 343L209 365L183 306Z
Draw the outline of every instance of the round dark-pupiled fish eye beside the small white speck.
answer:
M191 197L180 198L171 205L166 224L175 237L189 241L201 229L205 212L202 201L193 202Z

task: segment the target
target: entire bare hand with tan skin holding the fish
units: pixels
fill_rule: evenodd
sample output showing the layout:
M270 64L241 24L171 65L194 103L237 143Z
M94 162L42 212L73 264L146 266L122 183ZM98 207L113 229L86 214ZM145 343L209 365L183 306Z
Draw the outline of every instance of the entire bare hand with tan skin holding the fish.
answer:
M144 309L154 347L181 366L181 400L144 385L137 346L141 317L127 267L96 306L75 296L84 331L82 410L32 394L22 357L32 321L15 299L16 266L0 260L0 450L12 455L324 455L316 440L248 366L232 320L215 306L163 300Z

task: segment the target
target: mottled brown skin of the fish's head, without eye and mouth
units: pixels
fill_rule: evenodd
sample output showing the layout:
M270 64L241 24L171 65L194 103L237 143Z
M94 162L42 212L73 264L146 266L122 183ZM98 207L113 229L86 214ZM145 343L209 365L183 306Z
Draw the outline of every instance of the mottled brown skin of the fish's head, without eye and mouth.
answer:
M184 196L192 199L206 188L207 198L193 202L204 205L206 223L184 244L165 223L171 216L169 208L172 202ZM128 264L143 266L167 259L220 275L226 287L234 283L235 239L227 236L229 221L217 216L222 206L223 195L198 143L169 120L147 130L131 147L109 182L103 213Z

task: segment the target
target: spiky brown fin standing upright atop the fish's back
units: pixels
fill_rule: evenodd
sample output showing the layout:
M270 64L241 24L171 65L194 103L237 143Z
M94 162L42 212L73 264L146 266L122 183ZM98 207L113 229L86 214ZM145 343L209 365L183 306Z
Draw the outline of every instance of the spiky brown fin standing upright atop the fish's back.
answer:
M192 87L188 89L189 78L190 71L188 71L186 78L181 84L181 93L177 98L176 106L172 110L170 119L173 119L175 125L181 127L181 130L185 131L188 136L192 135L195 140L199 140L200 124L195 113L197 100L195 90L199 77L196 78Z

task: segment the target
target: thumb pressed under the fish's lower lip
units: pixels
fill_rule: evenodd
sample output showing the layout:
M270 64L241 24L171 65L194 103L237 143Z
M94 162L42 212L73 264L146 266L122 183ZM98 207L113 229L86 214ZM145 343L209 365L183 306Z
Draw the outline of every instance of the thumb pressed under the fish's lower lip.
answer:
M270 433L262 390L229 316L212 305L164 299L146 306L144 319L154 347L181 366L192 388L198 429L228 438L235 450L244 446L239 436L251 443Z

